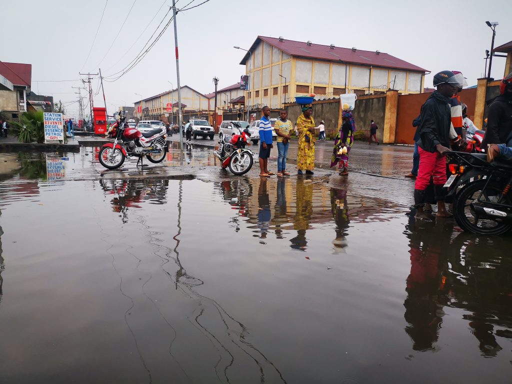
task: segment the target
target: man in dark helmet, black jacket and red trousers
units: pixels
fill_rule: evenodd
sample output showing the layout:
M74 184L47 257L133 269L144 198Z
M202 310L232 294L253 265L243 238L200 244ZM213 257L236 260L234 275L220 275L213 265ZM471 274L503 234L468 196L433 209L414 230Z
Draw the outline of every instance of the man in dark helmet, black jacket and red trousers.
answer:
M421 123L418 127L419 169L414 185L414 204L416 219L430 221L423 211L425 204L425 189L434 181L434 194L437 200L437 217L449 217L444 205L446 190L446 160L444 155L450 152L451 107L450 99L462 87L462 83L451 71L441 71L434 76L432 93L423 104Z

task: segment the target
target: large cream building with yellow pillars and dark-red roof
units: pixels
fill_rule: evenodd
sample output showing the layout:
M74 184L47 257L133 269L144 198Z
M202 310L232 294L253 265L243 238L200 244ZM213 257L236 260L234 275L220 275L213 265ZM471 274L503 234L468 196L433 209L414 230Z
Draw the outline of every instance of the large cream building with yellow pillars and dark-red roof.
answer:
M258 36L240 64L250 76L245 103L254 108L280 108L285 100L310 93L316 99L388 89L421 93L428 72L384 52L265 36Z

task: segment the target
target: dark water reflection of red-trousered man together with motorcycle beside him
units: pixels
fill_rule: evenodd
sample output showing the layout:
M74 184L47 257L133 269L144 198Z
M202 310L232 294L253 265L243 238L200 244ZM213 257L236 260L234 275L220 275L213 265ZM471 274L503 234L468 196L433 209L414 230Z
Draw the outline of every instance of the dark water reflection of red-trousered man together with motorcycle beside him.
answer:
M467 312L462 319L481 355L497 356L502 350L499 338L512 338L512 262L505 254L486 250L508 249L510 238L459 233L452 221L417 227L414 219L406 234L411 271L403 305L413 350L439 349L449 307Z

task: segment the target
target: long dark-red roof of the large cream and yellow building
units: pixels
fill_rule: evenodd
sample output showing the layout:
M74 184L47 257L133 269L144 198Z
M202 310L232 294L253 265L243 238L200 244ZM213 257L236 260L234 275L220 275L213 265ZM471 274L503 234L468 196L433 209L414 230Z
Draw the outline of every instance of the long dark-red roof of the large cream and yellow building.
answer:
M428 72L428 70L426 69L415 66L410 62L401 60L387 53L380 52L377 54L376 52L373 51L362 51L359 49L353 51L350 48L341 47L334 47L333 49L330 46L325 46L321 44L308 45L304 41L294 41L285 39L283 39L283 41L280 41L279 38L275 37L258 36L258 38L254 40L254 42L252 43L252 46L249 50L254 51L256 45L260 40L267 42L273 47L279 48L280 50L291 56L308 57L329 61L343 61L366 66L396 68L408 71ZM248 59L248 57L249 53L246 53L240 64L245 65L245 61Z

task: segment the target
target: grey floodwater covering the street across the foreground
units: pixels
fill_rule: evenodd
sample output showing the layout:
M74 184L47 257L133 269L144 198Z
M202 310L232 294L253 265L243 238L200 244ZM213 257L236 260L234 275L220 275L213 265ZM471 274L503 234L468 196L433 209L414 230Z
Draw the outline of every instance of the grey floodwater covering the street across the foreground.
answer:
M510 380L510 236L315 179L59 179L91 156L0 154L0 382Z

